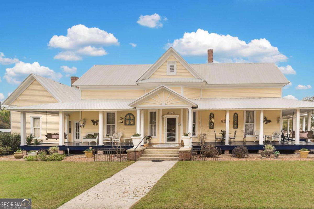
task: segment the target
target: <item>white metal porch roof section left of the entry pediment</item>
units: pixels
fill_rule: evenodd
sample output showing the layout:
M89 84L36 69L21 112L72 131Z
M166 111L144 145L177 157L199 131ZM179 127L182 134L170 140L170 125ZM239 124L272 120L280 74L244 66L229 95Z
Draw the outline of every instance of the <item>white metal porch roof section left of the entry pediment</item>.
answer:
M58 102L42 105L12 107L8 110L118 110L133 109L128 106L134 99L82 99L72 102Z

